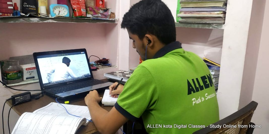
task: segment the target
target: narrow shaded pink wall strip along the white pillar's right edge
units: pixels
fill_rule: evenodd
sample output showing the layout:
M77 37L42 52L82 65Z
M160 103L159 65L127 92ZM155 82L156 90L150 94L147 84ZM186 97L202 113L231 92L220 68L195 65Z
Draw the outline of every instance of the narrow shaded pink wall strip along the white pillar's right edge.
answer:
M263 27L265 2L265 0L253 0L252 4L239 109L252 101L261 31Z

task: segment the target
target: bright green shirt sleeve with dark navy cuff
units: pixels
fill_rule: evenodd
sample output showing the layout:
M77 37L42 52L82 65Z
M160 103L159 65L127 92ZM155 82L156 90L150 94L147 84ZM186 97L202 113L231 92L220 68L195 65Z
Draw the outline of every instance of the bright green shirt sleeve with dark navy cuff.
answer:
M129 120L137 120L146 110L153 109L158 98L157 86L151 73L138 66L124 85L115 108Z

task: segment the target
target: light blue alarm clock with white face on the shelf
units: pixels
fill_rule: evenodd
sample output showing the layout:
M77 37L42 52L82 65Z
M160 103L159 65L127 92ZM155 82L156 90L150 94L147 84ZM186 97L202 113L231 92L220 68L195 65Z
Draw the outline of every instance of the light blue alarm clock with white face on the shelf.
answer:
M51 17L55 17L56 15L69 17L69 9L67 5L51 4L49 6L49 12Z

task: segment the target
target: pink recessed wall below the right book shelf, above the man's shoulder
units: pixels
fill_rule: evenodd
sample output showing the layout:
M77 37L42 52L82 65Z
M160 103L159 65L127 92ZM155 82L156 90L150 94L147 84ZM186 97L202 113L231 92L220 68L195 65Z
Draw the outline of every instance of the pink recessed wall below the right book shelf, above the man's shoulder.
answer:
M205 28L176 28L176 40L183 49L220 63L223 30Z

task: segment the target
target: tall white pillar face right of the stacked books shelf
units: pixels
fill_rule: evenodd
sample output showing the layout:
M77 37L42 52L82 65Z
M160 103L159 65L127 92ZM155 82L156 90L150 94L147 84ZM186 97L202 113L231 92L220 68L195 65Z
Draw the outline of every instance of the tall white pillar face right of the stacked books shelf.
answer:
M220 119L238 110L251 9L252 0L228 1L217 95Z

